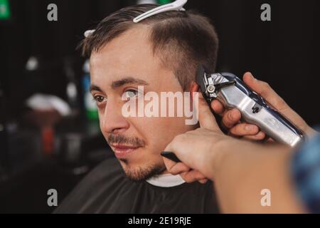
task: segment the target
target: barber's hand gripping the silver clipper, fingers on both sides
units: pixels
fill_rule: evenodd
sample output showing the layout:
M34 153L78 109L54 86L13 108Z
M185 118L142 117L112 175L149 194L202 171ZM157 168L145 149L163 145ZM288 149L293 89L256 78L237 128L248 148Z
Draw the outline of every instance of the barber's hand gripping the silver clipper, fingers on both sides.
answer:
M245 73L243 76L245 84L254 90L256 93L262 96L267 103L276 109L279 113L284 115L292 123L297 125L304 133L312 134L314 130L306 124L306 122L296 113L292 108L284 102L284 100L264 81L255 79L250 72ZM218 100L213 100L211 107L215 111L222 115L222 125L224 128L229 129L229 135L237 138L245 138L248 140L263 140L266 138L265 133L262 133L256 125L249 123L240 123L241 113L238 109L233 108L231 110L225 110L222 103Z

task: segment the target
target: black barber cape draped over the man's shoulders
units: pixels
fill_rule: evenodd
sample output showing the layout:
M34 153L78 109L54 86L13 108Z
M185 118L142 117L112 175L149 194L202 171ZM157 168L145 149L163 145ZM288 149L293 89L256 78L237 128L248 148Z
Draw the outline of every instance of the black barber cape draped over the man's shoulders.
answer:
M133 182L119 161L105 160L95 167L55 213L217 213L212 182L158 187Z

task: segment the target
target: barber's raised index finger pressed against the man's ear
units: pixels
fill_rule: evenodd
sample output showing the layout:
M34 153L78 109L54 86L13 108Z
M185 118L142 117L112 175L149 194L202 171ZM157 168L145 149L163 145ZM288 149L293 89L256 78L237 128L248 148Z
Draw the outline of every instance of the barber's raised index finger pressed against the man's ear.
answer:
M200 127L206 128L208 130L213 130L215 132L221 132L213 113L211 113L208 103L203 98L203 95L201 93L198 93L198 95L198 114Z

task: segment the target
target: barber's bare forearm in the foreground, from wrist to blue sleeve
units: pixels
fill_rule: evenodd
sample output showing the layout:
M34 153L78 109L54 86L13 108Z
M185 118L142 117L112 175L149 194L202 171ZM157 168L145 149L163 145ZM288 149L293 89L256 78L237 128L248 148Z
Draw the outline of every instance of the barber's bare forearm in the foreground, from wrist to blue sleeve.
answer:
M292 186L290 148L230 140L217 145L213 180L223 212L304 212ZM271 206L261 204L261 191L271 192Z

